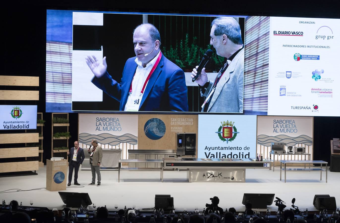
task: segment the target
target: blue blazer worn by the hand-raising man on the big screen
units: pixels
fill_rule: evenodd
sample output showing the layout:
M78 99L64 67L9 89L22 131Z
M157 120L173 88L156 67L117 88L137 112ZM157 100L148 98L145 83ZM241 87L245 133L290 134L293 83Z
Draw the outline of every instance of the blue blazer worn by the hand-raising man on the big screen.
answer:
M98 88L120 102L120 111L124 110L128 101L130 85L137 69L135 58L126 61L120 83L107 72L101 78L92 79ZM139 111L188 111L184 71L164 55L149 79Z

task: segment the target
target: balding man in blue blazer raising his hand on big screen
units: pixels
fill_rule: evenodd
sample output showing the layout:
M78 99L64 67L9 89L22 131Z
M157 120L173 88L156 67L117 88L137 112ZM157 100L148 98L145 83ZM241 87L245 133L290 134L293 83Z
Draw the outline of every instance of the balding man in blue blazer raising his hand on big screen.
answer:
M120 111L188 111L184 72L160 51L156 27L138 25L133 44L136 57L126 61L120 83L106 71L106 57L101 63L88 56L86 63L95 75L92 83L119 101Z

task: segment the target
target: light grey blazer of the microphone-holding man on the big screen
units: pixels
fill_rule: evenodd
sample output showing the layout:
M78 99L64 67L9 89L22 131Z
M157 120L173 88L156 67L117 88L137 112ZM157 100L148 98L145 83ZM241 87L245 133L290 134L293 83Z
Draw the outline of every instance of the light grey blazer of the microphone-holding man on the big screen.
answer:
M208 112L243 113L243 73L244 48L236 54L217 83ZM202 96L207 97L210 94L216 78L214 81L209 80L209 86Z

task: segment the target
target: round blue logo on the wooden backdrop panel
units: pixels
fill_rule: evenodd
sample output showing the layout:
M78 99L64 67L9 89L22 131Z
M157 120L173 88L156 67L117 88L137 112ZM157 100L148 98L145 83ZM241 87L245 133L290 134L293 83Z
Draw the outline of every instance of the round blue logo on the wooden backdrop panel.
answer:
M144 125L145 135L152 140L157 140L165 135L166 127L159 118L149 119Z

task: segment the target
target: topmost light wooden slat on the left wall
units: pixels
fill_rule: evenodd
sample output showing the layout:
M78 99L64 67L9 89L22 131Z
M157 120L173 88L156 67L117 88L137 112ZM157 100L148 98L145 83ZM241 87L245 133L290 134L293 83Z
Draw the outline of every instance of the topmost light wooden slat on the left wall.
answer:
M6 86L39 86L37 76L3 76L0 75L0 85Z

